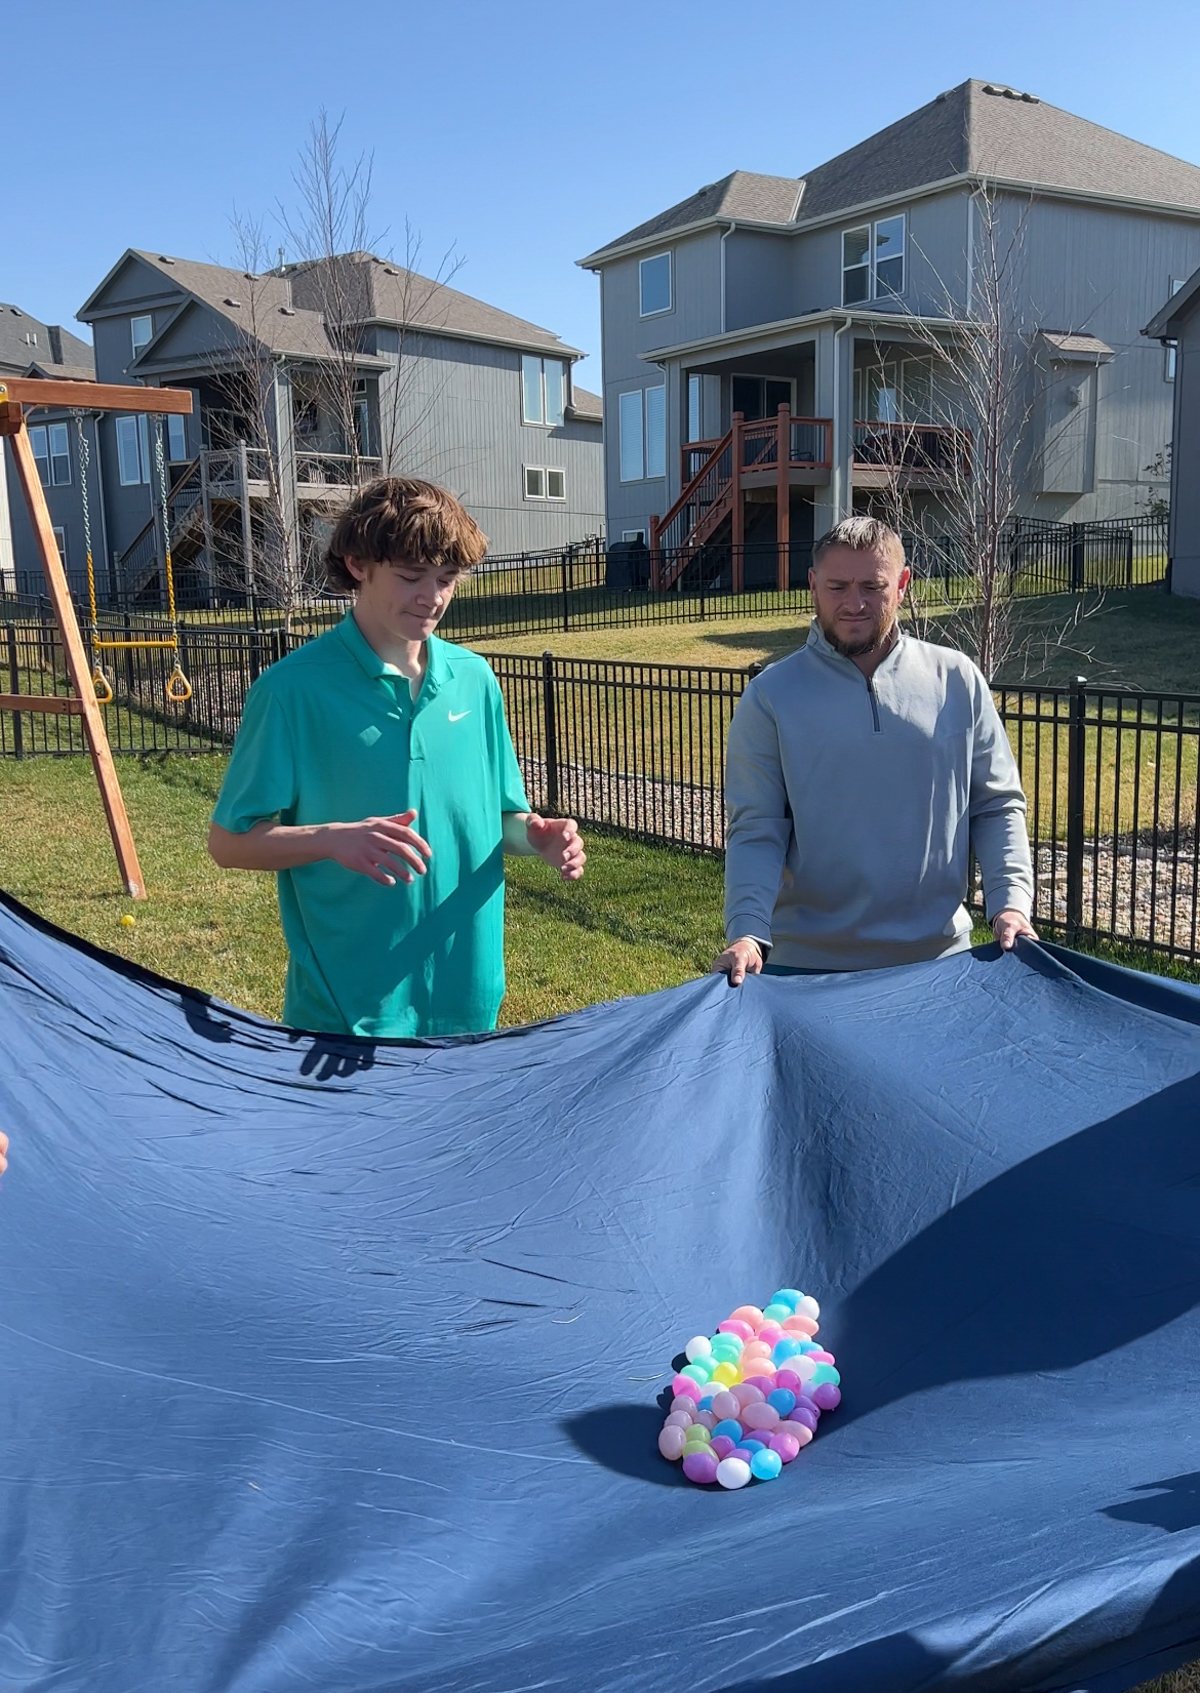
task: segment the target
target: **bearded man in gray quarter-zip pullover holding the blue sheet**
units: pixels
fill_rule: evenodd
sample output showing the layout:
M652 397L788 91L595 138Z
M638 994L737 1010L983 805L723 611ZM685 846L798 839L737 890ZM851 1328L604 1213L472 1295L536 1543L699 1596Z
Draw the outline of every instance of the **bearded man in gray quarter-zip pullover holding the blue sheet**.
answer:
M846 518L812 549L807 645L755 677L726 750L726 948L770 968L877 970L963 951L968 853L1002 946L1032 935L1017 764L970 659L900 633L904 545Z

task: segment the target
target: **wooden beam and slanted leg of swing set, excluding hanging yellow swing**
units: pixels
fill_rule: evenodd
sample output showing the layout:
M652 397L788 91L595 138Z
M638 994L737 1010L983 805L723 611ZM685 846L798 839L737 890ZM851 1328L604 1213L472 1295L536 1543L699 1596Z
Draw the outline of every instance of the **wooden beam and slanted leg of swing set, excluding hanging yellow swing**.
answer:
M39 378L3 378L0 379L0 438L8 440L17 477L20 479L34 525L34 538L42 557L46 587L54 620L63 638L63 653L71 677L73 694L0 694L0 711L39 711L68 713L83 721L83 735L91 755L91 769L96 774L96 786L103 801L112 835L117 865L120 869L125 892L132 899L146 899L142 867L137 862L134 833L129 826L125 801L117 780L117 767L105 731L103 713L96 703L96 691L88 669L88 657L83 648L80 621L71 603L66 571L59 557L54 528L51 525L46 491L37 474L34 449L29 444L25 428L25 406L69 406L85 411L146 411L152 415L186 416L191 411L191 394L181 388L113 388L102 383L56 383Z

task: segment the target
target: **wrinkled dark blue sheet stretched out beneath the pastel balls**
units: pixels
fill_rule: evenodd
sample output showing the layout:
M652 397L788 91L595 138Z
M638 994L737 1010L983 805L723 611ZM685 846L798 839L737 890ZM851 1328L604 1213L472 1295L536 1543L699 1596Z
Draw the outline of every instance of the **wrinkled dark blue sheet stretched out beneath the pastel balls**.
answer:
M1124 1690L1200 1656L1200 995L1022 945L296 1036L0 906L3 1693ZM687 1485L777 1285L845 1402Z

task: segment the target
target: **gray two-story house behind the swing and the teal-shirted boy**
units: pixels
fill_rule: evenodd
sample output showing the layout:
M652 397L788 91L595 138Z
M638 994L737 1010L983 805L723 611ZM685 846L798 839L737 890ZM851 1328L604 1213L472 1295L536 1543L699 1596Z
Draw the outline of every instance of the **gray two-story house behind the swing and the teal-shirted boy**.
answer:
M347 484L379 471L454 489L493 554L603 530L601 401L574 381L582 354L372 254L256 276L130 249L80 318L100 381L195 396L161 428L102 422L113 596L161 591L162 479L174 560L190 591L218 598L256 586L272 527L289 559L311 560Z

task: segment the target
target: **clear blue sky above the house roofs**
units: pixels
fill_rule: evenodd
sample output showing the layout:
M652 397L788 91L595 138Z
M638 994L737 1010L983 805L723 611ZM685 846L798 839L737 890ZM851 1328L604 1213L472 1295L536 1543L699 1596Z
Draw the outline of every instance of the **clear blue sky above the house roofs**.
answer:
M320 107L455 286L599 352L575 259L735 168L799 176L968 76L1200 163L1193 0L7 0L0 300L73 325L125 247L228 262ZM74 325L78 328L78 325ZM579 371L599 388L599 359Z

